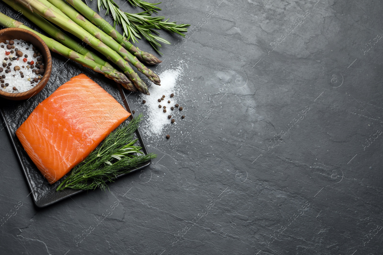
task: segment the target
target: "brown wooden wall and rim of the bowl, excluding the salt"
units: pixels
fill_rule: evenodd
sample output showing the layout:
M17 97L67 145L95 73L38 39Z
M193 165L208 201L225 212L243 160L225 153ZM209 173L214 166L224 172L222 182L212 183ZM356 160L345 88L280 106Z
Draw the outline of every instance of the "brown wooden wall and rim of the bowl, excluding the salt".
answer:
M43 39L41 39L39 36L34 34L31 31L28 31L26 29L22 28L5 28L0 30L0 42L6 43L6 40L23 40L26 42L30 42L34 47L36 47L40 54L43 56L44 60L44 75L41 78L40 82L34 86L32 89L29 89L28 91L21 92L21 93L9 93L2 91L0 89L0 96L10 99L10 100L24 100L28 99L29 97L32 97L39 93L41 89L45 87L45 85L48 83L49 77L51 77L51 71L52 71L52 57L51 52L48 49L48 46L45 44ZM0 50L3 50L0 48ZM12 84L10 84L11 86Z

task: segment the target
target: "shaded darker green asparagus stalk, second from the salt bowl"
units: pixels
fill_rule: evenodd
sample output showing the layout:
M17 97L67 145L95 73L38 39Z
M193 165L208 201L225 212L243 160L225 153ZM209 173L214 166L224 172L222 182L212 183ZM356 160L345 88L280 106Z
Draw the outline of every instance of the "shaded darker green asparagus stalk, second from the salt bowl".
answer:
M19 13L22 13L24 16L26 16L29 20L31 20L34 24L38 25L41 29L43 29L45 32L47 32L50 36L52 36L54 39L56 39L58 42L64 44L68 48L74 50L75 52L78 52L81 55L86 56L87 58L94 60L95 62L99 63L100 65L103 65L108 68L113 68L110 63L106 62L102 58L98 57L96 54L91 52L90 50L86 49L82 45L78 44L74 39L64 34L62 31L60 31L58 28L53 26L51 23L49 23L46 19L38 15L37 13L32 13L29 11L25 6L21 5L20 3L15 3L12 0L3 0L3 2L7 3L9 6L11 6L15 11L18 11Z

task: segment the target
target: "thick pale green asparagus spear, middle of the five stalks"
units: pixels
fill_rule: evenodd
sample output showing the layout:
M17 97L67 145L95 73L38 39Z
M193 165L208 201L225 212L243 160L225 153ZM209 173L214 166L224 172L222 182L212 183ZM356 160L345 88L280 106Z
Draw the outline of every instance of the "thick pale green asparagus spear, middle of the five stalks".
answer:
M139 76L134 72L134 70L129 66L128 62L126 62L120 55L117 54L114 50L110 49L103 42L98 40L96 37L92 36L85 29L74 23L67 16L64 16L57 11L48 8L43 3L38 0L16 0L22 5L29 8L31 11L35 11L40 16L48 19L52 23L60 26L65 31L71 32L74 36L78 37L83 42L89 44L93 49L97 50L101 54L105 55L109 60L113 61L116 65L118 65L127 75L131 81L133 81L134 86L144 94L149 94L149 90L147 89L144 81L139 78ZM131 88L133 89L133 88Z

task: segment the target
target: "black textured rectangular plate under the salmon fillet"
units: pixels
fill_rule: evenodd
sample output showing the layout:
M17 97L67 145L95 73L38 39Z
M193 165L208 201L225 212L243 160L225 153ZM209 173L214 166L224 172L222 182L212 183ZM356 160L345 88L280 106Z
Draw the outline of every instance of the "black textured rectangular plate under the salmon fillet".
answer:
M80 70L83 69L79 67ZM131 113L131 109L127 100L127 94L124 89L117 83L108 79L99 80L97 74L89 73L88 70L83 70L86 75L88 75L92 80L95 80L98 84L100 84L108 93L110 93L115 99L123 106L125 106L126 110ZM71 76L68 76L67 80L69 80ZM62 177L61 180L57 181L54 184L49 184L49 182L43 177L38 168L34 165L32 160L29 158L28 154L25 152L23 146L18 140L15 132L18 127L26 120L26 118L31 114L33 109L39 104L39 102L46 99L49 95L51 95L59 86L62 84L61 79L57 81L58 75L52 71L51 80L47 84L47 86L35 96L24 100L24 101L10 101L7 99L3 99L0 104L0 113L3 118L3 123L1 124L0 129L7 129L8 134L11 138L13 147L15 149L15 153L20 161L21 167L25 174L26 180L28 182L28 186L31 190L31 195L33 197L34 203L38 207L45 207L48 205L52 205L60 200L71 197L77 193L83 192L83 190L72 190L67 189L60 192L56 192L57 186L61 183L61 180L67 176ZM65 81L64 81L65 82ZM128 118L129 120L133 119L133 114ZM142 147L142 151L147 154L146 146L142 139L141 133L139 130L136 131L136 138L139 139L139 146ZM138 145L138 143L137 143ZM139 168L132 169L130 172L137 171L148 166L151 161L146 162ZM121 177L125 174L118 175ZM18 185L23 185L22 183Z

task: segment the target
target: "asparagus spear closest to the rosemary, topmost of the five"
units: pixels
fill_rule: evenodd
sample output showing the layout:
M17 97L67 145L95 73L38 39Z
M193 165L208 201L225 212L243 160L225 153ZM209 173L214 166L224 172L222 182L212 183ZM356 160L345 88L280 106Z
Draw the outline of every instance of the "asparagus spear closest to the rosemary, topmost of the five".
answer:
M89 8L81 0L66 0L70 5L72 5L77 11L79 11L83 16L89 19L93 24L100 27L106 34L113 37L119 44L129 50L131 54L136 56L140 61L145 62L150 65L155 65L161 63L154 55L141 51L138 47L136 48L133 44L124 40L122 34L120 34L113 26L111 26L105 19L101 18L95 11Z

